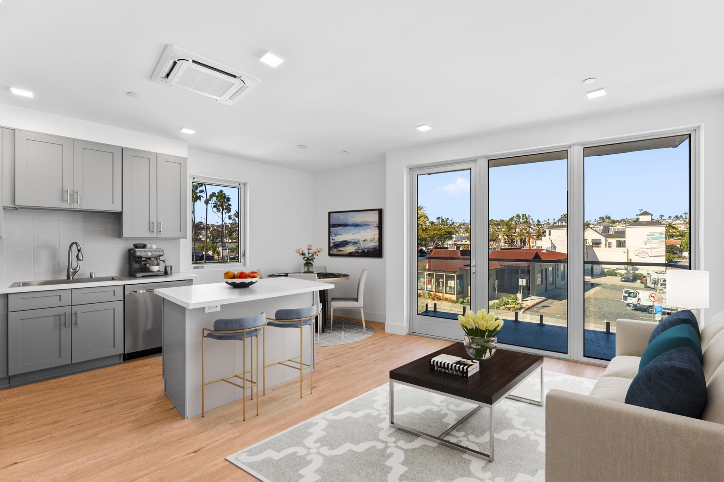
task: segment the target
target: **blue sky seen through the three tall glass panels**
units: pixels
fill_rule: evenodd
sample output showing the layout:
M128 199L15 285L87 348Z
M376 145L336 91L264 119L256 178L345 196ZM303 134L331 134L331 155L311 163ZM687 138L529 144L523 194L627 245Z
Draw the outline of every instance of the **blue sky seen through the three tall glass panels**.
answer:
M566 164L549 160L489 169L490 218L523 212L533 220L559 218L567 212ZM640 210L681 215L689 211L688 179L689 140L675 148L588 157L584 218L634 218ZM430 220L470 220L470 171L418 176L418 205Z

